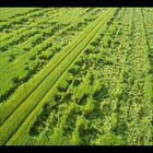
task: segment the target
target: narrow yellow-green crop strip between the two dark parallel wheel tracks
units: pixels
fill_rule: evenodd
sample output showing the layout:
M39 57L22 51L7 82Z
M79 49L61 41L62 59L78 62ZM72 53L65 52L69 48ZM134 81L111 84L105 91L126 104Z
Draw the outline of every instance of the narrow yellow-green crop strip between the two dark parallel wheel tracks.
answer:
M75 40L73 43L73 46L72 46L72 43L71 43L71 46L67 48L68 49L68 54L70 52L70 55L64 60L60 61L59 66L55 69L55 71L52 71L45 79L45 81L35 90L35 92L33 92L27 97L27 99L25 99L25 102L13 113L13 115L11 115L10 118L2 125L2 127L0 129L2 131L3 131L3 128L5 129L8 127L8 132L7 132L8 138L11 136L11 133L13 133L15 131L15 129L20 126L20 123L22 123L22 120L24 120L24 118L35 108L35 106L37 105L37 103L43 98L43 96L46 94L46 92L54 85L54 83L57 81L57 79L60 76L60 74L74 60L75 56L78 56L78 54L80 52L80 50L82 50L89 44L89 42L93 38L93 36L95 35L95 33L97 31L99 31L99 27L105 22L105 20L104 20L104 21L101 21L101 23L98 23L99 19L92 26L90 26L89 28L86 28L86 31L89 31L87 32L87 36L84 36L84 33L82 35L80 35L81 39L83 39L83 39L83 42L81 42L81 44L80 44L80 40L81 40L80 37L78 37L78 40ZM91 32L91 30L92 30L92 32ZM76 46L76 48L74 48L74 46ZM74 48L74 49L71 52L72 48ZM66 52L67 52L67 50L64 51L64 54ZM61 57L61 58L63 58L63 57ZM59 58L59 60L60 60L60 58ZM30 105L28 103L30 104L33 103L33 105ZM24 114L23 114L23 110L25 111ZM17 119L17 120L15 119L14 120L15 122L13 122L12 119L13 118L16 118L16 115L17 114L20 114L20 119ZM12 120L11 122L9 121L10 119ZM10 129L10 126L12 127L12 123L13 125L15 123L16 126L13 126L13 129L9 130ZM5 132L3 132L3 137L1 136L2 141L5 141L7 140L7 136L4 136L4 134L5 134Z

